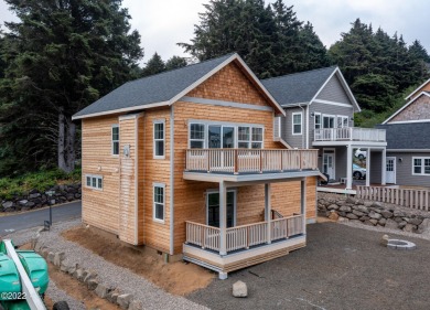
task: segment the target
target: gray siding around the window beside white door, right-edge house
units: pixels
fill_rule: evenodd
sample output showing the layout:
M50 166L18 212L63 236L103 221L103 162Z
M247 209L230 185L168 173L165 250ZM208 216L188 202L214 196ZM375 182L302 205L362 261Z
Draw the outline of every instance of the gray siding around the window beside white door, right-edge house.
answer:
M430 153L388 153L396 158L396 184L411 186L430 186L430 175L412 175L412 157L430 157ZM399 162L401 158L401 162Z

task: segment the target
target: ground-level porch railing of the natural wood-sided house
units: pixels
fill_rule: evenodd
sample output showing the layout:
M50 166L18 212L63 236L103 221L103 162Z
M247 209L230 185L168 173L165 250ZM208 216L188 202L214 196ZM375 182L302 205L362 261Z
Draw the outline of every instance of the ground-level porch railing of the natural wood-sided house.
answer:
M289 238L303 233L303 216L294 215L270 221L270 240ZM268 222L235 226L226 229L227 253L248 249L251 246L265 244ZM186 222L186 243L202 248L219 250L221 229L194 222Z

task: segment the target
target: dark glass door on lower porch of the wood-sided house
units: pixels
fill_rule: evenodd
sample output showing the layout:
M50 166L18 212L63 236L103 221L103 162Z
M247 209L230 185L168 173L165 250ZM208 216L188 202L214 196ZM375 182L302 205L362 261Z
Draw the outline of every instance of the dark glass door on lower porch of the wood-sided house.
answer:
M227 227L235 224L235 191L227 192ZM219 193L207 193L207 225L219 227Z

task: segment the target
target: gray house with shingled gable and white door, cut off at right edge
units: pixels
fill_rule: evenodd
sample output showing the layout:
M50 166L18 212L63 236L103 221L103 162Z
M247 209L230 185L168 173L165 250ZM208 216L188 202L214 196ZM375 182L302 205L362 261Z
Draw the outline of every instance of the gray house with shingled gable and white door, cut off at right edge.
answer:
M386 181L430 186L430 79L377 128L387 132Z

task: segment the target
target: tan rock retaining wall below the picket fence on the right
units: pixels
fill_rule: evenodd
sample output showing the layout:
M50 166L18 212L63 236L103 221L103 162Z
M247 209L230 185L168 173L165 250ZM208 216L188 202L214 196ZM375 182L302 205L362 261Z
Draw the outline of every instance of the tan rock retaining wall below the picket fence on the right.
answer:
M426 211L326 193L319 193L318 210L320 215L338 222L356 222L409 233L430 234L430 212Z

